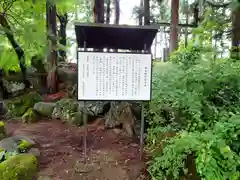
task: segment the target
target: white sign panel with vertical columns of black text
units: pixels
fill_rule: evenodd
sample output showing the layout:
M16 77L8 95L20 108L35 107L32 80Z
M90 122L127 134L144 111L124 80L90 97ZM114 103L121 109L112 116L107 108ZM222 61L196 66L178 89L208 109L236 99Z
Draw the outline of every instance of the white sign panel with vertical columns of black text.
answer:
M150 100L151 54L78 52L78 100Z

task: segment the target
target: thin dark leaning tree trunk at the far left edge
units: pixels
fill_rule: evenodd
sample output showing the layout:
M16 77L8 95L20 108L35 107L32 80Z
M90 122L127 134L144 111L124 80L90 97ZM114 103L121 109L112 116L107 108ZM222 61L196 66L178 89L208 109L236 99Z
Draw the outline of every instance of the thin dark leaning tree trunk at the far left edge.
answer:
M30 87L30 83L27 80L27 72L26 72L26 64L25 64L25 54L23 49L20 47L20 45L17 43L17 41L15 40L12 31L11 31L11 27L7 22L6 16L1 13L0 14L0 24L3 28L6 29L5 34L9 40L9 42L11 43L14 51L17 54L18 57L18 61L19 61L19 66L21 68L22 71L22 76L23 76L23 81L25 84L25 88L29 88Z

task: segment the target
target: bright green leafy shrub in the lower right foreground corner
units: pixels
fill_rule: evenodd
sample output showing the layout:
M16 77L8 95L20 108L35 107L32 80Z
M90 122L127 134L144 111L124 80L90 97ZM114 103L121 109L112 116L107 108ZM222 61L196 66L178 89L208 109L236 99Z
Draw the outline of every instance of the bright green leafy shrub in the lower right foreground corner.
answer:
M240 149L234 151L232 142L238 141L239 135L240 116L217 122L211 130L182 131L155 156L149 167L151 176L155 179L171 176L178 180L184 172L187 174L186 159L194 154L202 179L237 180L240 178Z

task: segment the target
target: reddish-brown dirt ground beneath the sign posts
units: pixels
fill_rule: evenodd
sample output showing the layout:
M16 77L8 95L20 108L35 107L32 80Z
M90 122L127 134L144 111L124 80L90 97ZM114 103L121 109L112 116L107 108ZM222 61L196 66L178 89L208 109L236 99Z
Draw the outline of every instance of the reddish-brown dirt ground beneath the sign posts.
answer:
M139 160L137 140L89 127L88 163L83 163L83 128L60 121L41 121L36 124L9 122L11 135L25 135L37 142L40 149L40 175L52 180L137 180L144 162Z

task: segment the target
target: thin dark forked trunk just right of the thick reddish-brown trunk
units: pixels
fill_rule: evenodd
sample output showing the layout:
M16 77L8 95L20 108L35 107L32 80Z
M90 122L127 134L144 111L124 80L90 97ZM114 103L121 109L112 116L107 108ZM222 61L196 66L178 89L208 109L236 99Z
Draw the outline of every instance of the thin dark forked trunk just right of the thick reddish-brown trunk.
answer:
M67 23L68 23L68 14L64 13L63 15L57 14L58 20L60 22L60 29L59 29L59 43L66 47L67 46ZM60 60L65 61L67 58L67 53L65 50L59 50Z

